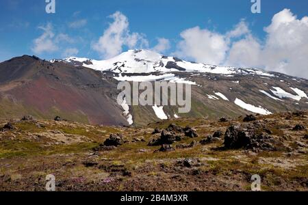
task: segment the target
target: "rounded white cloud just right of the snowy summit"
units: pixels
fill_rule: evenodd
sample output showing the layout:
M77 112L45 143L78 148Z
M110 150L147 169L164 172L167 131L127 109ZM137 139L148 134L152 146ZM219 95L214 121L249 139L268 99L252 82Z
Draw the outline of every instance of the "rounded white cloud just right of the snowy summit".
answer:
M194 27L182 31L181 38L175 55L208 64L222 64L224 61L228 45L222 34Z

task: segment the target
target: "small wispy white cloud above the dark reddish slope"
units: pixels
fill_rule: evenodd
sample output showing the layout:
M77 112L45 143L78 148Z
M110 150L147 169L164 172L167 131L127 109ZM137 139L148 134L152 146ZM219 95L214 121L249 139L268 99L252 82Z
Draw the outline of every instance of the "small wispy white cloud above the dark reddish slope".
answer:
M55 34L53 33L53 27L51 23L48 23L46 27L38 27L44 33L38 38L34 40L34 46L31 48L31 50L34 53L43 53L43 52L54 52L57 51L58 47L53 42L53 38Z

